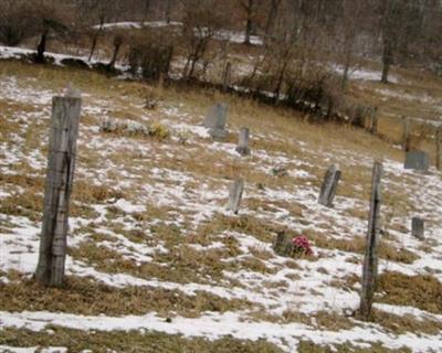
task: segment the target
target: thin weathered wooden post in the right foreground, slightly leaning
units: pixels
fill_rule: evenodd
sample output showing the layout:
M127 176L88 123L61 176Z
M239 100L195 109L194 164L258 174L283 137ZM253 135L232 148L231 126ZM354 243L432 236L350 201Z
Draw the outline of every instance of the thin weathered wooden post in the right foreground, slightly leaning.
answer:
M382 163L376 161L372 170L370 214L368 220L367 249L364 257L362 289L360 293L360 314L368 320L371 314L371 304L378 277L378 245L380 217L380 181Z

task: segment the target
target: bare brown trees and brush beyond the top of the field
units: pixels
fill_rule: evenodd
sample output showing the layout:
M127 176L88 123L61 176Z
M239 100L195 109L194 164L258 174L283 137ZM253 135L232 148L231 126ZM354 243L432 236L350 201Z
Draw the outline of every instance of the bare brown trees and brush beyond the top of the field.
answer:
M122 21L179 25L106 31L106 23ZM245 50L229 43L232 32L243 34L236 41ZM0 0L0 42L14 46L29 39L35 39L36 62L44 62L53 39L87 43L90 60L106 42L108 68L125 47L133 73L154 81L169 73L173 57L182 62L182 78L201 79L230 52L248 53L251 68L235 84L275 101L307 101L329 116L348 106L343 92L360 58L380 62L385 83L391 65L442 72L442 1Z

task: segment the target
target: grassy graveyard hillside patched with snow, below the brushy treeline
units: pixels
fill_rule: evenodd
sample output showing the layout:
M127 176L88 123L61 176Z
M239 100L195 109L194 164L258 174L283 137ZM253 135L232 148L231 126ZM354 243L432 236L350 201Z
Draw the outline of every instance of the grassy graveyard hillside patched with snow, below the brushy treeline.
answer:
M38 259L51 99L83 93L65 288L31 280ZM146 97L157 101L144 107ZM230 104L225 142L201 126ZM438 352L442 350L441 173L404 171L398 149L346 126L215 92L147 87L86 71L0 63L0 350ZM168 138L105 133L103 118ZM250 127L252 154L235 152ZM383 234L372 323L359 302L371 167L382 160ZM343 170L334 208L317 196ZM284 165L287 175L272 169ZM245 179L239 215L225 210ZM411 236L425 218L427 239ZM280 231L315 255L272 250ZM60 347L60 349L55 349Z

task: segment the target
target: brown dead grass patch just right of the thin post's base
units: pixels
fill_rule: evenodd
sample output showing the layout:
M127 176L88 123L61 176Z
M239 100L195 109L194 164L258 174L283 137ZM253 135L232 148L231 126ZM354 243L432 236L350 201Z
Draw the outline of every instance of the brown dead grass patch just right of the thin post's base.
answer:
M442 285L435 277L388 271L379 276L378 290L385 293L381 302L442 313Z

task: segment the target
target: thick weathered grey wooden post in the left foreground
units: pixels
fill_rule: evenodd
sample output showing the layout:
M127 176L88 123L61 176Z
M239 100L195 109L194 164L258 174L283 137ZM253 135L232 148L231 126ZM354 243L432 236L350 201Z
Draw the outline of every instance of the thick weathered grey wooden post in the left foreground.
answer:
M52 99L52 120L44 191L43 226L35 279L46 286L62 285L66 259L70 197L78 136L80 94Z

